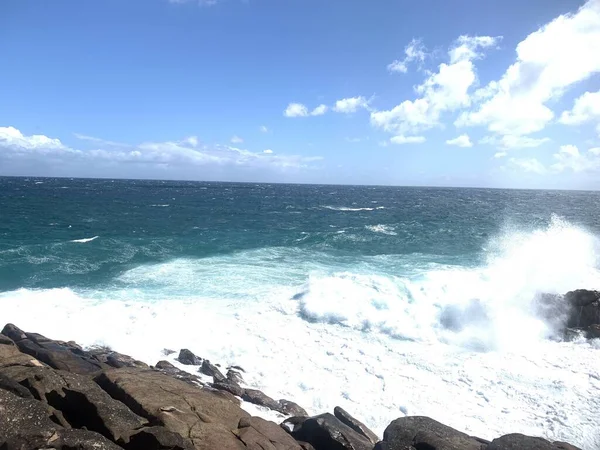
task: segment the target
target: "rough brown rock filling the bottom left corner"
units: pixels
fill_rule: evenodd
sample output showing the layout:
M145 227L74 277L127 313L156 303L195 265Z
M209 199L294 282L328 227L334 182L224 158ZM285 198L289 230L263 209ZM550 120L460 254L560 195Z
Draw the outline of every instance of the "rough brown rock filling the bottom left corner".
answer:
M4 450L120 450L98 433L66 429L51 420L46 406L0 390L0 448Z

